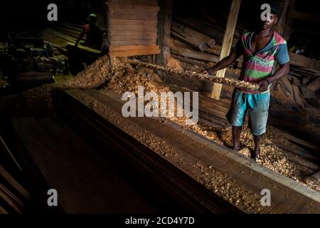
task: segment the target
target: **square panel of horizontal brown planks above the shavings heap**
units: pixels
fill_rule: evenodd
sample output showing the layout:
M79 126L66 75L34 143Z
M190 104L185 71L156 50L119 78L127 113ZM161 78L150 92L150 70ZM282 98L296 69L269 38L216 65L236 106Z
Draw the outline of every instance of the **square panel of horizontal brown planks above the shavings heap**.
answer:
M110 0L110 56L138 56L160 53L156 46L157 0Z

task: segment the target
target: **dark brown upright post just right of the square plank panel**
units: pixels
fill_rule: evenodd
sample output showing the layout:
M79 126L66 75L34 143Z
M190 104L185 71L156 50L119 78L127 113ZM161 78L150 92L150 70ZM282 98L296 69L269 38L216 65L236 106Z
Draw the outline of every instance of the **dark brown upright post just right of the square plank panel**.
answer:
M172 0L161 0L159 2L158 15L158 38L157 44L161 48L161 53L156 55L156 63L164 66L170 57L170 27L172 15Z

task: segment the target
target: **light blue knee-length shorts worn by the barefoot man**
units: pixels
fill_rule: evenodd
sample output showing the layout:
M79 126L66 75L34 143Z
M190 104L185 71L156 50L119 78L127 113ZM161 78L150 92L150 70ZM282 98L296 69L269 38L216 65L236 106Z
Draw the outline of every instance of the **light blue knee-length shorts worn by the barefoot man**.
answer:
M265 133L269 113L270 92L251 94L235 90L227 118L231 125L240 127L249 113L249 127L252 135Z

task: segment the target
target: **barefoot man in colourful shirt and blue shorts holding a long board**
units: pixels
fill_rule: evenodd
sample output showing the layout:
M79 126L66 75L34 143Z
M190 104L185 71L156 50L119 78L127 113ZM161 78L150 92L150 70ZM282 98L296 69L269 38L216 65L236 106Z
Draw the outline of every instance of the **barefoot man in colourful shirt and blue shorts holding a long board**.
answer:
M287 42L273 30L279 16L277 2L270 2L271 15L267 20L259 18L259 26L253 32L241 36L230 55L223 58L215 66L202 73L213 74L230 66L243 55L240 81L257 83L259 90L243 90L236 88L227 115L232 125L233 150L240 150L240 133L245 121L245 114L249 113L249 127L255 140L255 149L251 158L260 157L260 142L265 134L270 105L270 84L286 76L289 72L289 54ZM275 61L279 69L274 71Z

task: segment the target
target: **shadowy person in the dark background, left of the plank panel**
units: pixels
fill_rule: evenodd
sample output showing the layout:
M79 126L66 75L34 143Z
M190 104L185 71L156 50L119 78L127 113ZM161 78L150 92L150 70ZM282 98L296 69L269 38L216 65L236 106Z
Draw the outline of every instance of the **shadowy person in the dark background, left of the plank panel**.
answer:
M102 31L95 25L97 22L97 16L95 14L90 14L87 18L88 24L82 26L83 30L75 42L75 46L78 46L79 41L85 36L85 46L90 48L95 48L101 50L102 48Z

